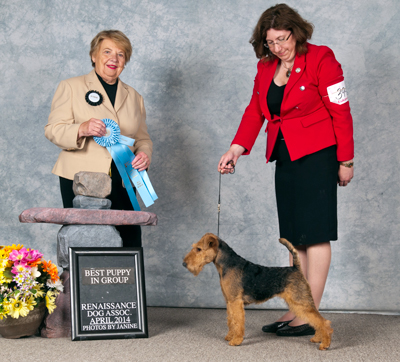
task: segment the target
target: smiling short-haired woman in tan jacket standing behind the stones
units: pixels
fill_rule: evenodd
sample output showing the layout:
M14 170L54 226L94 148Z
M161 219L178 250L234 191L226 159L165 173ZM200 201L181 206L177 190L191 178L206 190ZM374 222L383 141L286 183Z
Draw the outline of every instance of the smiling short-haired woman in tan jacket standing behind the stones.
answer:
M62 81L54 95L45 136L61 148L53 168L60 177L64 207L72 207L74 175L79 171L111 175L112 209L133 210L121 176L106 148L93 136L106 134L104 118L114 120L121 134L135 139L132 167L143 171L150 166L153 144L147 132L142 96L124 84L119 75L129 62L132 46L118 30L105 30L91 42L94 69L87 75ZM140 226L118 226L123 245L141 246Z

